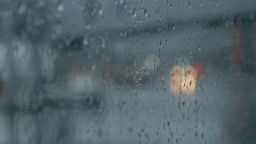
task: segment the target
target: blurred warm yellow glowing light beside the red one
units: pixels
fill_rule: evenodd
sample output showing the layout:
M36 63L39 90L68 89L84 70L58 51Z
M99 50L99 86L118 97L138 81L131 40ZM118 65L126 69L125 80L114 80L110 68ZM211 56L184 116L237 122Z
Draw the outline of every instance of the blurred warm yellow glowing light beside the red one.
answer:
M196 70L191 67L173 67L170 71L171 91L175 95L190 94L196 88Z

